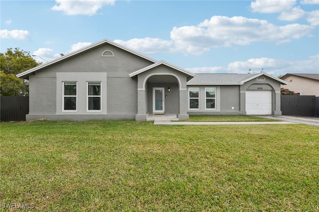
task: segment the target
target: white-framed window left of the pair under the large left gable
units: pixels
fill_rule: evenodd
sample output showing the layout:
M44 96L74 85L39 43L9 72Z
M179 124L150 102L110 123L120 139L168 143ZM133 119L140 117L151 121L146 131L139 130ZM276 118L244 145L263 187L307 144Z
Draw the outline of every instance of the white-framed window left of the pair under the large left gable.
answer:
M63 82L63 111L77 110L77 82Z

